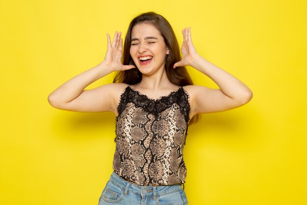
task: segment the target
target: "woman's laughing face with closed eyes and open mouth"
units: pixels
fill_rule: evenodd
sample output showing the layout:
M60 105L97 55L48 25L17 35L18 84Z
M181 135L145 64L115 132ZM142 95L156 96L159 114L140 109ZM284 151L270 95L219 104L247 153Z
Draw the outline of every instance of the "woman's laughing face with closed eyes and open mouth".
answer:
M151 24L137 24L131 32L130 56L142 74L164 70L169 50L160 32Z

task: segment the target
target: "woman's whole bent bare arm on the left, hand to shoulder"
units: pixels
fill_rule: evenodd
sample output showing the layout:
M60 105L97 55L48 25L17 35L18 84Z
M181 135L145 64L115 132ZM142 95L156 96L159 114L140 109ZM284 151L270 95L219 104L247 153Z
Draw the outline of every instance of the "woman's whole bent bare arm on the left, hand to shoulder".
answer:
M123 39L121 32L115 32L113 42L107 34L108 47L104 60L97 66L78 74L56 88L49 96L51 106L76 112L112 111L117 115L117 102L126 84L112 83L94 89L85 89L88 85L113 71L134 68L123 65Z

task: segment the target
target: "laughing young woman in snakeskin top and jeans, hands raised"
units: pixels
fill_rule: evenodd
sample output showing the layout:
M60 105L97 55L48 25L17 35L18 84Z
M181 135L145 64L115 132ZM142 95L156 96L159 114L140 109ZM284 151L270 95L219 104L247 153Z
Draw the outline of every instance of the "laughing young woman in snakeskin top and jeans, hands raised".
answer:
M181 59L169 22L143 13L130 23L124 51L121 32L115 32L112 42L107 34L104 60L49 95L58 109L117 116L114 172L99 205L186 205L181 184L188 123L196 122L198 114L230 110L252 98L246 85L196 52L190 28L182 34ZM194 86L185 66L208 76L220 89ZM114 71L113 84L84 90Z

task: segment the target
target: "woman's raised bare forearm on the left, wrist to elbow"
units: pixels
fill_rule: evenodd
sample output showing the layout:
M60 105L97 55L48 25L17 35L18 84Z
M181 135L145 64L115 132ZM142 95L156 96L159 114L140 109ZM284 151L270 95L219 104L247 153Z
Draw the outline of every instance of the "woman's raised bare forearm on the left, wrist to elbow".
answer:
M97 66L80 73L79 75L65 82L60 87L56 88L48 96L48 101L51 105L68 103L77 98L88 85L111 72L111 69L105 66L105 64L102 62Z

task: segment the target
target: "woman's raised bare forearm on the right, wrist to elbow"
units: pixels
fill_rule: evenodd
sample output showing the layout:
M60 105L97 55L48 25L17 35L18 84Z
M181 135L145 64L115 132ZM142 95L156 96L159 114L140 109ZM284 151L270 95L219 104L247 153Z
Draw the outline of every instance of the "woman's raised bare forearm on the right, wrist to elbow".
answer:
M221 91L233 100L246 103L252 98L251 89L243 82L201 56L193 60L192 66L212 79Z

